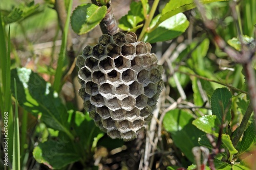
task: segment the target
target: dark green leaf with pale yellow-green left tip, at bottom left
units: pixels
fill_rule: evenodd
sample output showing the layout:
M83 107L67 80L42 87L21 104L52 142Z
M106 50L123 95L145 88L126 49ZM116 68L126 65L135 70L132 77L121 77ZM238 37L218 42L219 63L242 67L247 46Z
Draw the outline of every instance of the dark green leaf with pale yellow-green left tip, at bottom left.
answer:
M80 159L72 143L64 138L39 143L34 148L33 156L37 162L44 163L51 169L60 169Z

